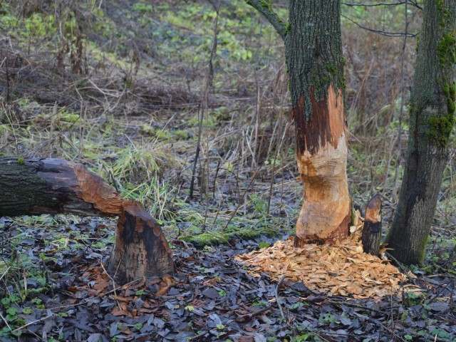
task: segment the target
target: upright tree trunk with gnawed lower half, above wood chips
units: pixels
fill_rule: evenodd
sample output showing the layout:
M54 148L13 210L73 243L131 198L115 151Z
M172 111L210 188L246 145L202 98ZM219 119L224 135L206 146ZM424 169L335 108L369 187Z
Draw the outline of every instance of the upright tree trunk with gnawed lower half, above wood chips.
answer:
M348 236L346 117L340 1L291 0L286 61L296 155L304 203L295 245L332 243Z

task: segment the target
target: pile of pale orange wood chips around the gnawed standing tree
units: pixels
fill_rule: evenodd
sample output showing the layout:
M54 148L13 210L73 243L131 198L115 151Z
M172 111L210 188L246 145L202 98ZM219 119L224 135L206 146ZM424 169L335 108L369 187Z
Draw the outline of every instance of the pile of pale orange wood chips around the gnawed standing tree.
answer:
M290 238L235 259L252 266L249 273L253 276L264 272L279 280L285 275L286 279L302 281L309 289L328 296L379 298L411 286L407 276L389 261L365 254L359 236L357 232L340 244L308 244L304 248L295 248Z

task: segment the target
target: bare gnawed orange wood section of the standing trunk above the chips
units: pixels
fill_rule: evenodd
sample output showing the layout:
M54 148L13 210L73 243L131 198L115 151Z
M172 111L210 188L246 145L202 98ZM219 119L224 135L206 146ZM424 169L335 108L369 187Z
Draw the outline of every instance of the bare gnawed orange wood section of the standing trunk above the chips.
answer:
M304 106L303 101L299 107ZM348 237L351 221L341 90L336 95L330 85L328 98L314 100L312 108L314 113L309 121L300 122L294 114L299 139L298 169L304 183L304 202L296 223L296 247L341 241ZM296 110L301 113L302 107Z

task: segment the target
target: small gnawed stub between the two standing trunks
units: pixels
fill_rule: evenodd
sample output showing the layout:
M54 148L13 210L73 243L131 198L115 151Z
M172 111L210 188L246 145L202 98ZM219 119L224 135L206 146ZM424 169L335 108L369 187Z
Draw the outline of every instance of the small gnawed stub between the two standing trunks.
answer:
M366 214L364 215L363 234L361 242L365 253L378 255L382 233L382 200L376 194L368 202Z

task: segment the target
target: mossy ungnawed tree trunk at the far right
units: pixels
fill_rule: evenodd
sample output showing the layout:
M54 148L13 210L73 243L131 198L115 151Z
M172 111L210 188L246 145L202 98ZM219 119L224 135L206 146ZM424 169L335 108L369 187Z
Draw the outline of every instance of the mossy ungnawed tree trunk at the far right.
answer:
M421 264L455 123L456 0L426 0L410 98L410 138L398 207L386 241Z

